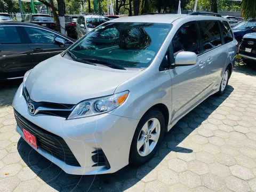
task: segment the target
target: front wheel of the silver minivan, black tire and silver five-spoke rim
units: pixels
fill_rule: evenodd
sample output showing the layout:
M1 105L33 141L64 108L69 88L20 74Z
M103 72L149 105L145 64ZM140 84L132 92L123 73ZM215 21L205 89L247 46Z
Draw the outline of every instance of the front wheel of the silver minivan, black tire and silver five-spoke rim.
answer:
M147 130L145 127L150 127L150 125L154 125L155 128L154 126L151 127L151 133L149 133L150 129L148 129L148 133L145 132L144 130ZM164 116L161 113L161 111L159 111L156 108L147 111L147 113L140 119L140 122L133 135L130 148L129 163L133 165L141 165L149 161L149 159L155 155L157 149L161 145L161 141L164 136L164 131L165 122ZM153 140L155 140L156 142ZM143 143L141 147L137 147L139 141L140 144ZM145 146L148 146L148 151L146 150Z

